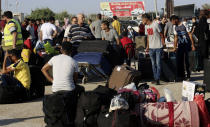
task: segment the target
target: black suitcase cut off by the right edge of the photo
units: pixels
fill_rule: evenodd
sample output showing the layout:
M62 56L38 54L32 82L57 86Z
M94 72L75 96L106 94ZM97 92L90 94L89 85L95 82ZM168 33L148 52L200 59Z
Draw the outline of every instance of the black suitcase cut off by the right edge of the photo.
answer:
M210 59L204 60L204 84L206 84L206 90L210 92Z

